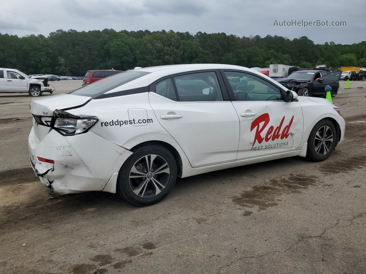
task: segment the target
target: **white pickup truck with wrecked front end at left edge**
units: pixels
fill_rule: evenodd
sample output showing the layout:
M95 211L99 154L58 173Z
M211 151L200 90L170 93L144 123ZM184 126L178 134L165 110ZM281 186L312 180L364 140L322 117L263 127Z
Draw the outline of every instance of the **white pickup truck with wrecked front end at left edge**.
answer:
M52 91L47 76L30 78L17 69L0 68L0 93L28 92L29 96L37 97Z

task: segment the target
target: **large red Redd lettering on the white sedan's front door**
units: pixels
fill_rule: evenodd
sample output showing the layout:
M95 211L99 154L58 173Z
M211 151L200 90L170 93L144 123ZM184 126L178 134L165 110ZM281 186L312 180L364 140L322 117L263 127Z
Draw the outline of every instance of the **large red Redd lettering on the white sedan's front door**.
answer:
M263 142L263 140L265 140L266 142L268 142L269 140L275 141L276 139L281 138L282 139L286 139L288 136L290 136L290 127L292 125L292 121L294 121L294 115L292 115L292 118L290 120L290 122L288 123L287 126L284 127L282 133L281 133L281 128L283 125L283 122L285 121L285 116L282 118L280 124L274 128L274 126L270 126L267 130L267 133L264 134L264 137L262 137L261 133L262 131L266 128L266 126L269 123L269 114L268 113L264 113L262 115L260 115L259 117L255 118L253 120L253 122L251 123L250 126L250 131L253 131L253 129L255 129L255 134L254 134L254 141L253 141L253 145L255 145L255 142L258 141L259 144L261 144ZM261 126L261 123L263 123L263 125ZM273 129L275 129L273 131ZM271 133L273 132L272 136Z

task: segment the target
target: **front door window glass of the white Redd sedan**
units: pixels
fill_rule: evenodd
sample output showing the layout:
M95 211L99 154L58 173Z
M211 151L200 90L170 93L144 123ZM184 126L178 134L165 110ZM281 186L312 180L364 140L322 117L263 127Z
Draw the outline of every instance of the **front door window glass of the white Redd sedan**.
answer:
M280 88L244 72L225 71L237 101L282 101Z

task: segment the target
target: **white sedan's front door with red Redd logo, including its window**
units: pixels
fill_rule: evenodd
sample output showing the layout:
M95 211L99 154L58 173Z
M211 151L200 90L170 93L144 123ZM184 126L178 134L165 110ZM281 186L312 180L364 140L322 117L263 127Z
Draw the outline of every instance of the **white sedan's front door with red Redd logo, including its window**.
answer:
M238 160L301 149L303 114L298 102L285 102L285 92L258 75L221 73L240 119Z

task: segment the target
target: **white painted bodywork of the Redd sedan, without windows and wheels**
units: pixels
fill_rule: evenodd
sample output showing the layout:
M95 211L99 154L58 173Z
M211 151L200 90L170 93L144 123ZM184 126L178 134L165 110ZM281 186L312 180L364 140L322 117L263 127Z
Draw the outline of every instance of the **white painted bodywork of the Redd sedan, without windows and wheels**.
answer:
M184 178L283 157L305 157L310 131L323 118L337 122L341 131L338 144L343 141L344 119L332 104L320 98L294 94L298 102L175 102L151 91L113 96L114 92L146 87L165 76L207 69L247 71L287 90L277 81L248 68L194 64L136 69L151 73L105 92L110 98L61 94L33 99L31 113L44 116L45 120L51 121L56 109L98 119L88 132L74 136L63 136L33 119L28 143L36 175L59 194L90 190L115 193L120 168L134 148L143 143L158 142L175 149L180 160L177 163L181 166L180 177ZM248 112L255 115L241 115ZM170 114L182 117L161 119ZM268 124L262 121L251 130L255 119L263 114L268 114ZM268 133L270 127L273 129ZM259 135L264 138L261 143L258 138L254 143L257 129L261 129ZM277 137L272 140L275 132ZM286 145L276 145L284 142ZM40 162L37 157L55 163Z

